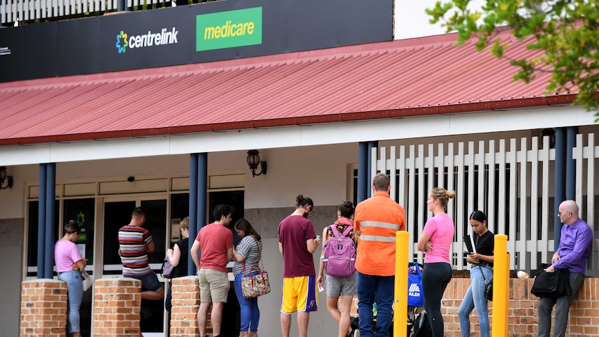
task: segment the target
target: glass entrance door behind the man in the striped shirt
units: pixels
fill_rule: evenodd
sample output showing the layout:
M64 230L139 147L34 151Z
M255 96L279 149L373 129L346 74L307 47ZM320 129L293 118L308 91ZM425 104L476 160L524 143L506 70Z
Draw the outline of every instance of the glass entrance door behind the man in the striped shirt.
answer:
M148 254L149 266L156 274L161 271L162 261L166 255L167 200L145 197L104 201L104 265L102 267L104 275L122 274L122 264L118 254L118 233L121 227L131 222L131 212L136 207L144 210L146 214L144 227L150 231L156 247L154 253ZM163 333L164 301L142 299L140 316L142 332Z

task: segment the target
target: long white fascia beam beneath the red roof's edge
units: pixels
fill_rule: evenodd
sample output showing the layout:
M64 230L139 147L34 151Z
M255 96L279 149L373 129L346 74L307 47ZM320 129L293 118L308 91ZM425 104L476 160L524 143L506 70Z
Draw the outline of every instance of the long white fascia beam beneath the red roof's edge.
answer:
M587 113L580 106L486 111L482 113L282 126L271 129L248 129L190 135L0 147L0 165L63 163L112 158L329 145L591 124L594 124L593 113Z

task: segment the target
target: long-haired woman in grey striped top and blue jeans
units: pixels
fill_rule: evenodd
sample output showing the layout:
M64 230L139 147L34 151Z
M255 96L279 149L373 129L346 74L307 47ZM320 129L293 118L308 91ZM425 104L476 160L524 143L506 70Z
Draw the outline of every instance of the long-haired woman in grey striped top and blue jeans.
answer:
M258 297L245 298L241 289L241 277L259 274L259 261L262 254L262 240L252 224L245 219L235 223L235 231L241 238L237 249L233 250L233 275L235 276L235 293L241 309L241 334L240 337L258 337L258 321L260 309Z

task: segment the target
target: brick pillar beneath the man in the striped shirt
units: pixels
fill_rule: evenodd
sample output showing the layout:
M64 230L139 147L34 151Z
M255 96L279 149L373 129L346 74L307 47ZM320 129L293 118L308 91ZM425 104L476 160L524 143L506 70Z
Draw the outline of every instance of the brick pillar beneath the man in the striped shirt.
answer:
M139 337L141 281L112 277L94 286L94 337Z

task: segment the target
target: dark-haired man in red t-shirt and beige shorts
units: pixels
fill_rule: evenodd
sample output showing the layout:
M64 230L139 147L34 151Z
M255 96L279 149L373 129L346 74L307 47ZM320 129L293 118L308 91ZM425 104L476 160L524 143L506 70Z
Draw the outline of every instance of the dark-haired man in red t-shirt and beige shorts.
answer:
M197 324L199 336L206 336L206 316L212 304L211 322L214 337L220 337L222 308L229 295L229 277L227 263L233 258L233 232L227 228L231 223L231 215L235 208L229 205L218 205L214 208L214 219L197 233L190 249L191 258L199 276L199 311ZM202 257L197 258L197 251Z

